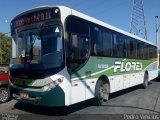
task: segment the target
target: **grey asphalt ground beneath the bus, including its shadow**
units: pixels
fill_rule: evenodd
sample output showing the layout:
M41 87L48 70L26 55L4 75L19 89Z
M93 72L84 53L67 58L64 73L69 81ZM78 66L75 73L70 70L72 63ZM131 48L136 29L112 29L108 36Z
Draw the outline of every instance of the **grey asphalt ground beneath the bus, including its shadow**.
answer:
M160 80L152 81L147 89L136 86L111 94L110 100L99 107L91 105L91 102L89 100L69 107L50 108L11 100L0 104L0 119L123 120L144 119L143 117L160 119Z

